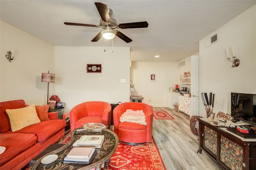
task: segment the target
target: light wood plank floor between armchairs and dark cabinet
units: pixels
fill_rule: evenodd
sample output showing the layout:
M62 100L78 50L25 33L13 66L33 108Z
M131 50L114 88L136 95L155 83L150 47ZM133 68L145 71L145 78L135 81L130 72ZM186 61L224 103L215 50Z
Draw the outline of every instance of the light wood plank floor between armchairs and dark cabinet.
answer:
M198 136L190 131L189 116L168 107L153 107L167 111L175 119L153 119L153 138L167 170L221 170L204 152L198 150Z

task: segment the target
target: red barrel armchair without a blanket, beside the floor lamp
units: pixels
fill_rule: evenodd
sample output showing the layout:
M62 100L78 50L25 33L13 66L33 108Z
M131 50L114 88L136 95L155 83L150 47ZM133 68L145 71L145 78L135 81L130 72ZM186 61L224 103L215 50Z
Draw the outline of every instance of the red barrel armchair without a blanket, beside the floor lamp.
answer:
M107 102L92 101L78 104L70 110L70 130L84 123L103 123L110 129L111 105Z

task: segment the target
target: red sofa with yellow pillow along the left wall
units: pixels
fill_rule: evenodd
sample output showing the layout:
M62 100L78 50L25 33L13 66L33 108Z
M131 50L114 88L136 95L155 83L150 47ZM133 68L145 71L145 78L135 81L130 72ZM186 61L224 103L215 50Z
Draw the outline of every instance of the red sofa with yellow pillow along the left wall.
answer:
M20 170L46 147L64 136L66 121L58 119L57 112L49 113L50 120L12 132L6 109L22 107L25 107L24 100L0 103L0 146L6 147L0 154L1 170Z

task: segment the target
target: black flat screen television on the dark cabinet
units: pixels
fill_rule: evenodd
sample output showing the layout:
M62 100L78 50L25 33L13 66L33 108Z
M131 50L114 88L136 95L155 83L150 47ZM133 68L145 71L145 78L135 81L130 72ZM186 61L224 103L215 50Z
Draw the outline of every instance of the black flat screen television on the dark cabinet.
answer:
M231 117L256 125L256 94L232 92Z

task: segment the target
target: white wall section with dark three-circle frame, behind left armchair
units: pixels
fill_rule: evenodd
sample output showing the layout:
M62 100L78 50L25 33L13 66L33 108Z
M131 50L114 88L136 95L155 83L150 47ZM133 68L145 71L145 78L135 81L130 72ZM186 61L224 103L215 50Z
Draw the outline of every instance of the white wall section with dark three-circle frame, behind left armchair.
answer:
M55 92L65 112L87 101L130 101L130 47L55 47ZM102 73L86 73L86 64L102 64ZM126 83L120 83L126 79Z

